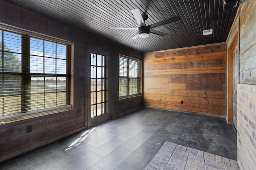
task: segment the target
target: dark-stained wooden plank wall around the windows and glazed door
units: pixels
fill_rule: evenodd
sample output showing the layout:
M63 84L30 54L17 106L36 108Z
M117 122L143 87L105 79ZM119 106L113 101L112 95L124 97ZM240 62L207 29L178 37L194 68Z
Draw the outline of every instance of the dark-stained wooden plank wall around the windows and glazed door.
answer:
M88 77L90 62L87 62L89 47L110 52L108 80L111 88L108 90L108 103L111 117L118 117L143 107L142 96L118 100L119 54L142 60L141 52L7 1L0 0L0 9L1 24L73 42L74 57L72 60L74 63L72 65L74 73L72 74L73 108L46 115L28 115L13 119L0 118L0 162L88 127L88 100L86 99L88 95L90 96L88 93L90 91L90 77ZM80 77L84 79L81 80ZM29 133L26 132L28 125L32 125L32 131Z

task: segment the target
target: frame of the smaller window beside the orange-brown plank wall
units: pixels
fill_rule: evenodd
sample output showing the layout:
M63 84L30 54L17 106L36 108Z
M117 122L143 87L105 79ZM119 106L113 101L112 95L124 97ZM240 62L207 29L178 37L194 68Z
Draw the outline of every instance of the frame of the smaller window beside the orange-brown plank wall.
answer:
M129 61L135 61L135 62L138 62L138 70L139 73L137 74L138 76L137 77L129 77L129 68L130 66L126 66L126 76L120 76L120 58L122 59L126 59L127 60L127 63L129 64ZM120 96L120 78L127 78L127 88L126 88L126 93L127 95L125 96ZM129 94L129 88L130 88L130 85L129 85L129 82L130 82L130 79L137 79L137 83L138 83L138 93L136 94ZM142 96L142 61L139 60L139 59L135 59L135 58L132 58L132 57L128 57L128 56L125 56L125 55L119 55L118 57L118 99L119 100L122 100L122 99L126 99L126 98L133 98L133 97L137 97L137 96Z

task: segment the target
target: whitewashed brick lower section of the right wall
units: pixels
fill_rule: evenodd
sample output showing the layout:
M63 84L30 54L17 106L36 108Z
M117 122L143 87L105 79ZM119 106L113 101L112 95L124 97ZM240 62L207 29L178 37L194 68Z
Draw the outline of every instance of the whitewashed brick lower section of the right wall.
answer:
M237 153L241 170L256 167L256 86L238 84Z

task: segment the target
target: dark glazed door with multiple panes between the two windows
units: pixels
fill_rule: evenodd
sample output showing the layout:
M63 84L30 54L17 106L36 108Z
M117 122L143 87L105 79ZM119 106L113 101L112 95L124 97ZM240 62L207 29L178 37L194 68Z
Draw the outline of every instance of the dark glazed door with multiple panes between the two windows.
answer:
M88 126L110 119L108 111L108 53L90 51Z

